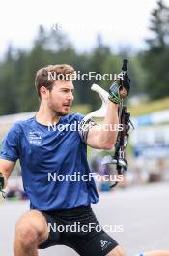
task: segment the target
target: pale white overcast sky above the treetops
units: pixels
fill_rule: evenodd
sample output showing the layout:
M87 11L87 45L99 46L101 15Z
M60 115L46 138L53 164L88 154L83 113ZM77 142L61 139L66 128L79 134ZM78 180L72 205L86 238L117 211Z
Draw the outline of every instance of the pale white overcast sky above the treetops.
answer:
M169 5L169 0L165 0ZM31 48L38 27L65 32L78 51L95 47L97 35L113 49L145 48L156 0L14 0L1 2L0 58L12 44ZM57 26L56 24L59 24Z

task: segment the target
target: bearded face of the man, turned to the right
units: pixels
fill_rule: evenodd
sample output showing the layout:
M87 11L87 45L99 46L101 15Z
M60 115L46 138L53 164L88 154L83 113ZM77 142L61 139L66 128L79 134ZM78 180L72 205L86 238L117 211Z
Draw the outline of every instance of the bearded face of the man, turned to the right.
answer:
M57 116L66 115L70 112L73 102L74 86L72 81L57 80L53 83L53 88L49 91L47 102L51 111Z

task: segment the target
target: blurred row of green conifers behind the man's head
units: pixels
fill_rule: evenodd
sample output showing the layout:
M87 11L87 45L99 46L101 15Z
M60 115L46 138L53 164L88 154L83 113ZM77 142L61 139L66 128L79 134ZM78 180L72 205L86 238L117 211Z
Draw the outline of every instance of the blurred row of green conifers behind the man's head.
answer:
M121 71L124 52L114 54L111 48L102 43L99 36L96 48L91 52L79 53L71 45L67 36L60 30L46 30L40 26L31 50L9 47L4 60L0 63L0 114L36 111L39 106L35 91L37 70L49 64L67 63L80 74L95 72L117 74ZM142 76L138 58L132 57L129 74L134 83L131 91L139 91ZM97 93L91 91L93 83L108 90L111 80L76 80L75 104L88 104L92 110L100 106ZM137 84L137 86L135 86Z

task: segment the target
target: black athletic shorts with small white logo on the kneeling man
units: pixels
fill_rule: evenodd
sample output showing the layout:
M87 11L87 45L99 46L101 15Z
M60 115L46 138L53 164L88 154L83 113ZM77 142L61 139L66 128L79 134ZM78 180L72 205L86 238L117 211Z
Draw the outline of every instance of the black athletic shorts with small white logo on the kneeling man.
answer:
M48 224L49 237L39 249L66 245L81 256L103 256L118 245L102 230L91 206L41 212Z

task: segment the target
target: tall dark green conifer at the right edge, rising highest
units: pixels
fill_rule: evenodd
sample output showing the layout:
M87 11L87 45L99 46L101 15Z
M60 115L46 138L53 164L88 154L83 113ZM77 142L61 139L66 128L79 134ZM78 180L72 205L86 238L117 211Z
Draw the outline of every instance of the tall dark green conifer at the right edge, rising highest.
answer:
M169 7L162 0L152 12L150 30L154 37L147 39L142 63L147 74L146 91L150 98L158 99L169 94Z

